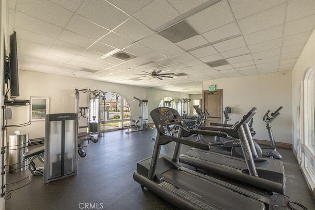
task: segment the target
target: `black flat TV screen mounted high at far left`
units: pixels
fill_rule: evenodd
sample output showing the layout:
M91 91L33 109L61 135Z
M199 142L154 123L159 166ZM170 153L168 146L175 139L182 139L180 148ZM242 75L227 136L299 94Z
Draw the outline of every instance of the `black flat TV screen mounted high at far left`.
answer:
M15 99L19 94L19 68L16 32L10 35L10 98Z

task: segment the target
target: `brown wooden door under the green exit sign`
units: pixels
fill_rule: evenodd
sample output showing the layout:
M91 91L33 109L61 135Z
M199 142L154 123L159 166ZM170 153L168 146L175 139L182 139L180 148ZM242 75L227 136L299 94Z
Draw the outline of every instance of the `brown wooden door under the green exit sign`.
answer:
M222 123L223 90L203 91L203 112L208 116L206 126L210 123ZM208 111L208 113L207 113Z

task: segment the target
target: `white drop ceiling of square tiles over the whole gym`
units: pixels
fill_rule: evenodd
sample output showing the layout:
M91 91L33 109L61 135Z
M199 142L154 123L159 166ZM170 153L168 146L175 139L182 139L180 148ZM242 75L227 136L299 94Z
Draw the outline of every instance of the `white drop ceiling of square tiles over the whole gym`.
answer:
M315 26L313 0L7 4L19 69L172 91L179 84L292 70ZM153 69L174 78L135 75Z

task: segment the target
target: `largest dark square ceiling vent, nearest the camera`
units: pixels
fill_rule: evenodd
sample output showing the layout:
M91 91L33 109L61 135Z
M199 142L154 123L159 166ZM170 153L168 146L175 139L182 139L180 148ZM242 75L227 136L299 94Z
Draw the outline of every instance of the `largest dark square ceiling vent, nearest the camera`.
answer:
M173 43L198 35L198 33L185 20L158 32L158 34L164 36Z

